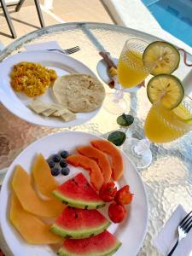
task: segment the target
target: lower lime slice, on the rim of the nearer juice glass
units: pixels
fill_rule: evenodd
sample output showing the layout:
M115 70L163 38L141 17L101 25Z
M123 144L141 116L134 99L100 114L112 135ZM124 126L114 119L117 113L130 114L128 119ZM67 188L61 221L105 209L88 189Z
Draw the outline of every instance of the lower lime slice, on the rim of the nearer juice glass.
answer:
M147 94L149 101L160 102L165 108L176 108L183 100L183 85L177 77L160 74L148 81Z

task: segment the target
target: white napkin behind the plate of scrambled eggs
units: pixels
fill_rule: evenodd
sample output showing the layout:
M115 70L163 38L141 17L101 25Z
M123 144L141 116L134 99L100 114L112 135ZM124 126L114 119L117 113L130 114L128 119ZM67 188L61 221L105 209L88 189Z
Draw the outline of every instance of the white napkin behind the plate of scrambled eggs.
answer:
M44 50L44 49L61 49L56 41L49 41L39 44L25 44L26 50Z

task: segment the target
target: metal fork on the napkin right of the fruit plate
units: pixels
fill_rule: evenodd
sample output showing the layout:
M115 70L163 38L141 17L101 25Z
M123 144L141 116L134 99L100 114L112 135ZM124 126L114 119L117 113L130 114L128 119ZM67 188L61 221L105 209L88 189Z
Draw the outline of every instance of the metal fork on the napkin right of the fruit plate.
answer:
M181 241L184 237L186 237L187 234L189 233L189 230L191 230L192 228L192 214L190 215L191 212L189 212L187 216L185 216L185 218L183 218L183 220L178 224L178 228L177 228L178 238L177 238L176 244L174 245L174 247L172 247L172 251L167 256L172 255L179 241Z

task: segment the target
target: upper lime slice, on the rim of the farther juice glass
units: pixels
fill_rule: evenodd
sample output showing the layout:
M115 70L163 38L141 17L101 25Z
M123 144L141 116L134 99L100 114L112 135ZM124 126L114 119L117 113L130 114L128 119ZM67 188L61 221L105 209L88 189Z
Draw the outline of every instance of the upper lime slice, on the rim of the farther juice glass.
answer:
M177 69L180 61L180 55L172 44L156 41L148 44L143 52L143 62L147 67L153 67L151 74L160 73L171 74Z

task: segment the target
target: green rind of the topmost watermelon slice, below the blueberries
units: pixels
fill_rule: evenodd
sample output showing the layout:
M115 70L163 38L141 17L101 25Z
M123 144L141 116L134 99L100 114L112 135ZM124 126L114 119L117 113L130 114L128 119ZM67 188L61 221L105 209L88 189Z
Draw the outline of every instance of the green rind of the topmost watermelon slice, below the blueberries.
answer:
M66 204L69 207L76 207L81 209L98 209L105 206L104 201L82 201L79 199L75 200L62 195L57 190L52 191L52 193L57 199L59 199L60 201L62 201L62 203Z

